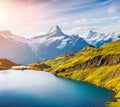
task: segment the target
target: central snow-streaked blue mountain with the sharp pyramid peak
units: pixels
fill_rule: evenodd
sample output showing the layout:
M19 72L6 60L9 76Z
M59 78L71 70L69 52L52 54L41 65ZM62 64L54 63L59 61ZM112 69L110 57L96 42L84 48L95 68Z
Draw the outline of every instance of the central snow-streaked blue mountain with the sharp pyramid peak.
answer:
M53 27L47 34L32 38L29 46L39 58L38 61L56 57L65 52L75 52L88 43L78 35L66 35L59 26Z

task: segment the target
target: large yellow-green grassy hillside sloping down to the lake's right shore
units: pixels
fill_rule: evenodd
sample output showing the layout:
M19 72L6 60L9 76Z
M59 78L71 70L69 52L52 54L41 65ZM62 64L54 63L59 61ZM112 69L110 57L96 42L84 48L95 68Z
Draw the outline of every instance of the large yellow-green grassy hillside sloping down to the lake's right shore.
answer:
M47 71L58 76L114 90L117 100L107 103L107 106L120 107L120 40L100 48L88 46L72 56L62 55L42 63L50 66Z

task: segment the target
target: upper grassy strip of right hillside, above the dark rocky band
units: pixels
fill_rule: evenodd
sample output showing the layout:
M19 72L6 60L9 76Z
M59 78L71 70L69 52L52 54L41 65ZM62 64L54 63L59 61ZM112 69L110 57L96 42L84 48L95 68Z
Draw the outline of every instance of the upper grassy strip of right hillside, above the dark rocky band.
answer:
M81 55L76 55L75 57L71 58L70 60L67 60L66 62L63 62L64 64L61 64L55 70L60 70L63 68L68 68L76 64L83 63L87 60L90 60L96 56L108 56L113 54L120 54L120 41L109 43L101 48L93 48L91 50L88 50L87 52L82 53Z

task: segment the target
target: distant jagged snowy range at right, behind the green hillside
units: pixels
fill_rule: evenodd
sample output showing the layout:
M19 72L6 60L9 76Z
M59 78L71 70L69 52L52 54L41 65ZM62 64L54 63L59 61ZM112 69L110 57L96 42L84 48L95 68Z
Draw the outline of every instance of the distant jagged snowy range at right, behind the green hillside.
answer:
M105 34L105 33L98 33L90 30L90 32L86 37L84 37L84 39L89 44L100 47L108 42L112 42L120 39L120 33L112 32L112 33Z

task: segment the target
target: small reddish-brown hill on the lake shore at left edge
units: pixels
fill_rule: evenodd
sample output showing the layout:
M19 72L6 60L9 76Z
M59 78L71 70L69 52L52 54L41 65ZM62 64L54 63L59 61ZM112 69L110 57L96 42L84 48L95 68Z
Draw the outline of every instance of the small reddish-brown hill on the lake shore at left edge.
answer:
M10 69L12 66L17 66L20 64L16 64L8 59L0 59L0 70Z

